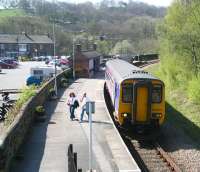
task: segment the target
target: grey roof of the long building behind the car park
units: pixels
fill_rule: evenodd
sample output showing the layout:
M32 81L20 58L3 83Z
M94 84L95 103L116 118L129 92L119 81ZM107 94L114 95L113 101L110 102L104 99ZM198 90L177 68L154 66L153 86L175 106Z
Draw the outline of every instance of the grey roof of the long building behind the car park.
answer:
M53 44L47 35L28 35L28 34L0 34L0 43L15 44Z

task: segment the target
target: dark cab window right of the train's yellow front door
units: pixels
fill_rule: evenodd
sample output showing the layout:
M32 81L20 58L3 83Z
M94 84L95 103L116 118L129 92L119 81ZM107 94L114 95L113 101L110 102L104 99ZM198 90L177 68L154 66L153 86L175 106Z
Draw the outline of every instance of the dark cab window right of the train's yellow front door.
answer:
M154 85L152 88L152 103L161 103L162 85Z

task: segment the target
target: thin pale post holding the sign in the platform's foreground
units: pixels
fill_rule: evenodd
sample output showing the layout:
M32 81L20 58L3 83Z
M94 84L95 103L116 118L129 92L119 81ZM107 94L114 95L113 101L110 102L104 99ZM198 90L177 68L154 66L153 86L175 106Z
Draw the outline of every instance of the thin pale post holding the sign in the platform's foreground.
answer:
M89 140L89 172L92 172L92 113L91 102L89 102L89 124L90 124L90 140Z

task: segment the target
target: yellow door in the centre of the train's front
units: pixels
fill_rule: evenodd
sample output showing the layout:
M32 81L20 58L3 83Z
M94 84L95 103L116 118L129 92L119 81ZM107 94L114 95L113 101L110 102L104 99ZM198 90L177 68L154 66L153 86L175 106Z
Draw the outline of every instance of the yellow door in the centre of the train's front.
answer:
M151 116L151 82L139 81L133 85L134 124L147 124Z

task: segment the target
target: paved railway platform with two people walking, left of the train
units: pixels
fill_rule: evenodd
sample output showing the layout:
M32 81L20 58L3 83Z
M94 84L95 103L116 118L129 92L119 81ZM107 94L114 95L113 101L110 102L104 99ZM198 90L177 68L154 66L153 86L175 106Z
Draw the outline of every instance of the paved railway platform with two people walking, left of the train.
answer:
M67 172L67 149L73 144L77 152L78 168L83 172L89 166L89 123L85 115L79 123L69 118L67 98L75 92L80 100L84 92L95 101L93 114L93 169L96 172L139 172L135 161L119 137L106 109L103 79L78 79L66 90L59 90L59 99L46 103L47 119L36 123L22 146L20 160L14 160L11 172Z

